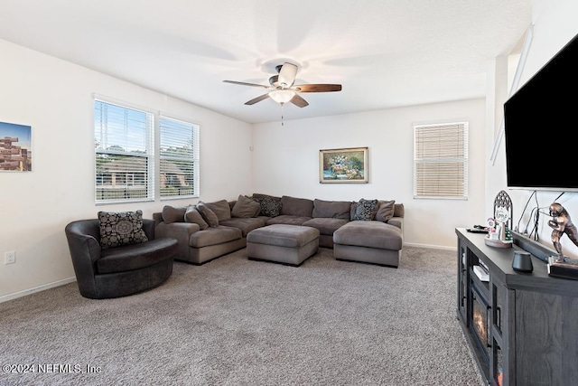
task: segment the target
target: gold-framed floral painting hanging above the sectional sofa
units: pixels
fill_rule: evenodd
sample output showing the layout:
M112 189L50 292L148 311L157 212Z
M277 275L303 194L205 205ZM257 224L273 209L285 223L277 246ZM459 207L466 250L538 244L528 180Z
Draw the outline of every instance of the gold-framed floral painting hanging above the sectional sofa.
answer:
M368 147L319 151L320 184L368 184Z

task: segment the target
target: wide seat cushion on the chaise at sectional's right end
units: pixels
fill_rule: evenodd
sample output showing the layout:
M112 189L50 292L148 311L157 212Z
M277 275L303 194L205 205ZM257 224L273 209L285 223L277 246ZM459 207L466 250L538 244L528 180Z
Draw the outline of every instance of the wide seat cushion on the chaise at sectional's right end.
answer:
M381 221L350 221L333 233L333 242L377 249L402 249L402 231Z

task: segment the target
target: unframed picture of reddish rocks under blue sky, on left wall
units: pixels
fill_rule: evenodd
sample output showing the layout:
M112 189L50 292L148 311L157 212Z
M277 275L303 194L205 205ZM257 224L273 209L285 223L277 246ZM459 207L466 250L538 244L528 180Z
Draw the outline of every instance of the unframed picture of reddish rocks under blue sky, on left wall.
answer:
M32 127L0 122L0 172L33 170Z

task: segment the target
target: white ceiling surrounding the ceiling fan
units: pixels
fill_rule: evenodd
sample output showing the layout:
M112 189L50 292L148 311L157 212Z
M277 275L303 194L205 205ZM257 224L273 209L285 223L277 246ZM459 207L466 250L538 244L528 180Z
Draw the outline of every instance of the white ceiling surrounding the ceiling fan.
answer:
M491 61L531 23L531 0L1 0L0 39L249 123L280 119L272 99L244 103L275 65L311 118L485 96ZM1 63L0 63L1 66Z

